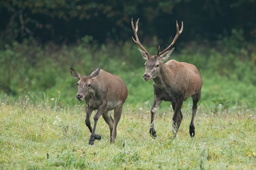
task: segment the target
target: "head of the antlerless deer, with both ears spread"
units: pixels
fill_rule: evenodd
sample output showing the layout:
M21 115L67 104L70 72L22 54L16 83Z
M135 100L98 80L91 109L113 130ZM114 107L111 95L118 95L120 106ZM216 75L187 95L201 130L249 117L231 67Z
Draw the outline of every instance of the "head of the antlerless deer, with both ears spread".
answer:
M78 93L76 94L76 99L79 101L83 100L89 93L92 93L93 90L93 80L97 77L99 74L99 71L101 68L97 68L94 72L92 72L89 76L82 76L80 73L75 71L73 68L70 68L71 75L79 79L79 81L76 83L78 88Z

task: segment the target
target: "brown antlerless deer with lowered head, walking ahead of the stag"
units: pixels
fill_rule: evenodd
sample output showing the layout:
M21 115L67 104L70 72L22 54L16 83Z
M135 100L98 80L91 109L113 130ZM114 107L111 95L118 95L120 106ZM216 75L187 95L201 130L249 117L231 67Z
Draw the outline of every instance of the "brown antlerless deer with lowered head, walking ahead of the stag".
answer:
M74 78L79 79L76 99L79 101L85 99L86 102L85 124L91 132L89 144L93 145L95 139L101 139L100 135L95 134L96 124L101 115L110 128L110 143L114 143L117 135L117 124L128 93L123 80L116 75L103 71L100 67L86 77L73 68L70 68L70 73ZM114 120L110 114L110 110L113 109ZM90 116L93 110L98 111L93 117L94 126L92 128Z

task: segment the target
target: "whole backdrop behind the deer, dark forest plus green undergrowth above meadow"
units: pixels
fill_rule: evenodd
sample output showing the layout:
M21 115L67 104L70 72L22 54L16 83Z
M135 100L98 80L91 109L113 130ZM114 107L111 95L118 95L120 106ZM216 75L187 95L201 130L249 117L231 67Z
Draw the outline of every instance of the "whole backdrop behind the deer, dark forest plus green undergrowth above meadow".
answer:
M171 43L176 20L184 22L170 59L198 68L200 102L256 107L255 0L0 0L0 102L28 95L55 99L54 106L76 103L71 66L82 75L101 66L124 80L127 104L152 102L131 18L140 18L139 39L150 54Z

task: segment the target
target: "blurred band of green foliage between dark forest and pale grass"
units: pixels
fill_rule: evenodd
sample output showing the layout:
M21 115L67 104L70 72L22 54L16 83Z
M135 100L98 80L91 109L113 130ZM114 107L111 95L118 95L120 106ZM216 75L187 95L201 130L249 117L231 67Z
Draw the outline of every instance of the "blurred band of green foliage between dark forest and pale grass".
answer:
M236 44L240 44L240 39L236 40L236 35L224 38L215 49L191 43L170 57L197 66L203 78L200 102L209 107L222 104L228 108L240 102L256 107L255 93L252 93L256 91L256 52L254 45L246 42L239 48ZM75 99L77 80L71 76L70 67L89 75L101 66L126 83L126 104L144 105L149 100L150 105L154 94L152 81L142 79L145 61L137 48L132 41L95 44L88 36L79 46L38 46L33 39L22 44L14 42L0 50L0 94L14 98L29 95L38 100L59 97L61 105L74 104L78 102ZM146 48L150 53L156 50ZM115 53L109 49L115 49ZM162 106L169 107L170 103Z

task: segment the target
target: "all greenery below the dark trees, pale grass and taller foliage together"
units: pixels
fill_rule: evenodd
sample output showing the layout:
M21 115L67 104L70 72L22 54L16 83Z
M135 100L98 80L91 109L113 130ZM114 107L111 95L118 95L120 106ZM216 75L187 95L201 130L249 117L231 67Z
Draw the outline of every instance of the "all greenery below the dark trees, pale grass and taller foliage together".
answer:
M194 64L202 75L192 139L191 98L175 139L169 102L157 108L157 139L150 137L153 81L142 79L145 61L131 41L97 44L85 36L77 46L38 46L33 39L6 45L0 49L0 169L255 170L256 51L232 36L214 48L183 44L170 58ZM85 102L75 98L69 70L89 75L99 66L124 80L128 97L115 143L100 117L102 139L89 146Z

